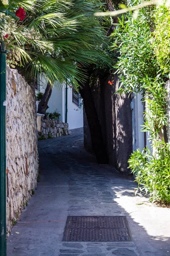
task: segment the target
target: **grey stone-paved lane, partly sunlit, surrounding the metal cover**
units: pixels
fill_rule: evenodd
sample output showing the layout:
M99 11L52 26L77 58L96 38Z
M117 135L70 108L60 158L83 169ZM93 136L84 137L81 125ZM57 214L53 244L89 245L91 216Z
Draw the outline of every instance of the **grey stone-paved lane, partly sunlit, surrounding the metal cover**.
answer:
M40 141L39 151L40 182L8 238L8 256L170 256L170 209L135 197L132 177L96 164L82 133ZM68 215L126 215L133 239L62 242Z

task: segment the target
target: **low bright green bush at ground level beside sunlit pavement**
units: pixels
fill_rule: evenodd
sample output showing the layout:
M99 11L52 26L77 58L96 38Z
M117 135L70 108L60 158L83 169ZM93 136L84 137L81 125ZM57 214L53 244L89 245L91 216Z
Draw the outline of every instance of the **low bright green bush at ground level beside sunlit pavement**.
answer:
M170 145L159 142L156 154L149 148L138 149L128 160L129 167L136 175L138 189L150 194L151 201L170 203ZM137 191L136 191L137 192Z

